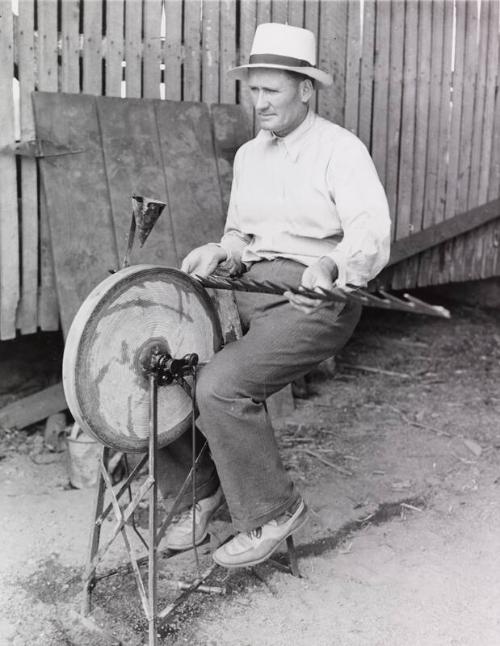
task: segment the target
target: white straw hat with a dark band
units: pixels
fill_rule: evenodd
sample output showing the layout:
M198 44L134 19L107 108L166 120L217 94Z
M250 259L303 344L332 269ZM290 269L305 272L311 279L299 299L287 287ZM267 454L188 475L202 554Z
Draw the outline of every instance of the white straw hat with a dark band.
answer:
M277 22L258 25L247 65L229 70L233 78L244 80L247 71L255 67L297 72L327 87L333 78L316 67L316 38L309 29Z

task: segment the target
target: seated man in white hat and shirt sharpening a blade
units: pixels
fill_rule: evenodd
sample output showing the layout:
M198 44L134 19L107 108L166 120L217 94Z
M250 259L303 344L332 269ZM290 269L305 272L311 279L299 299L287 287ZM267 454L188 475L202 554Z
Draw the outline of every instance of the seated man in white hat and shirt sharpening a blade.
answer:
M230 71L247 81L261 130L236 155L224 236L189 253L184 271L204 276L224 266L257 281L330 289L364 286L387 262L387 200L366 148L309 107L314 84L332 83L315 51L312 32L264 24L249 63ZM214 552L225 567L260 563L305 522L265 399L338 352L360 316L358 305L319 306L292 293L236 299L245 334L202 369L197 387L211 458L199 469L195 540L206 537L224 495L239 531ZM186 439L165 459L171 476L184 474ZM187 509L167 545L187 549L191 534Z

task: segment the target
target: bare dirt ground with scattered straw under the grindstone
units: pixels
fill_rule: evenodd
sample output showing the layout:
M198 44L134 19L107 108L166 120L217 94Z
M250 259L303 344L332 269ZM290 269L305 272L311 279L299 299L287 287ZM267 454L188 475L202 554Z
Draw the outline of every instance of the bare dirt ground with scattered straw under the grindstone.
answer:
M335 372L312 375L312 396L281 420L310 507L302 578L217 569L208 583L227 594L190 595L160 644L500 644L500 312L451 309L449 321L365 311ZM0 406L57 378L60 350L54 335L2 344ZM43 425L3 430L0 481L0 644L147 643L131 574L100 581L79 616L93 492L68 486ZM215 535L226 527L222 514ZM199 553L203 570L210 543ZM116 542L104 567L124 560ZM195 572L191 552L162 558L161 605Z

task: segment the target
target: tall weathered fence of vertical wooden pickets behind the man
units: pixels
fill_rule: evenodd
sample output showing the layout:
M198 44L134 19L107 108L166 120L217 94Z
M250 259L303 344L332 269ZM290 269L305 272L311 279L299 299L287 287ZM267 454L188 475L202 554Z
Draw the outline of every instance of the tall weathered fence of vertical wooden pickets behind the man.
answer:
M0 0L0 338L57 329L31 92L241 103L225 75L255 26L313 30L333 88L320 114L358 133L394 239L500 196L500 0ZM24 150L15 154L16 141ZM386 271L412 287L497 275L500 225Z

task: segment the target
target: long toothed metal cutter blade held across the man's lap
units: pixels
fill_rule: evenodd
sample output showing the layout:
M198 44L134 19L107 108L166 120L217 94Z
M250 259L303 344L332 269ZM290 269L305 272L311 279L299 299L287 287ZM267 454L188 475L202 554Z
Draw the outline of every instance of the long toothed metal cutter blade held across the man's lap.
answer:
M276 283L265 281L259 283L247 278L221 278L219 276L195 276L204 287L211 289L229 289L241 292L258 292L261 294L282 295L285 292L291 292L299 296L320 301L330 301L336 303L345 303L352 301L360 303L366 307L377 307L385 310L398 310L401 312L410 312L413 314L428 314L441 318L450 318L450 312L440 305L430 305L410 294L405 294L404 298L389 294L385 290L380 290L380 295L372 294L365 289L356 288L353 290L343 290L334 287L332 290L318 288L318 291L306 289L303 287L291 287L289 285L278 285Z

